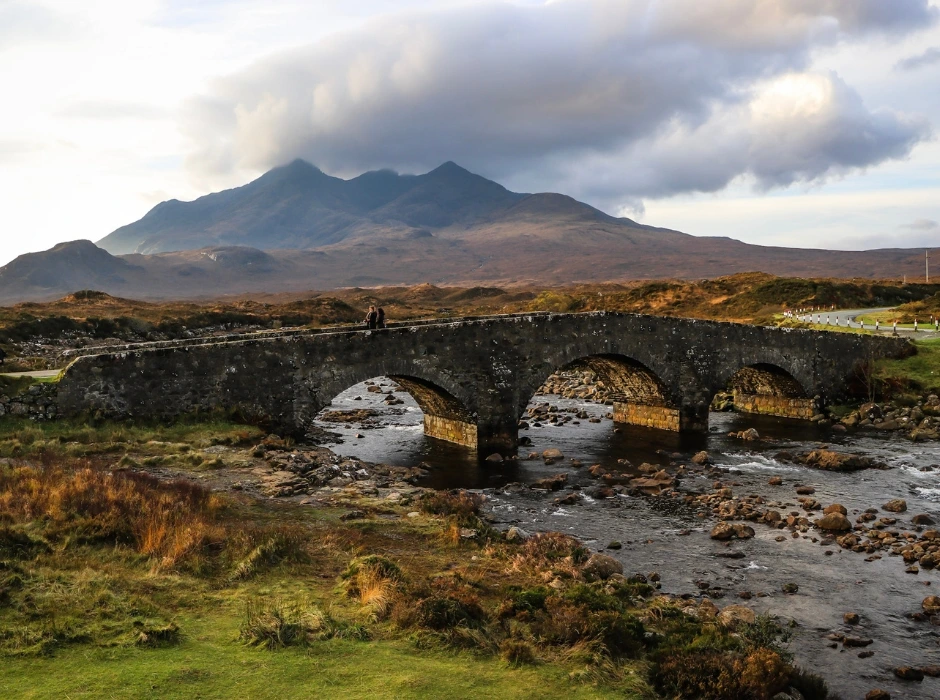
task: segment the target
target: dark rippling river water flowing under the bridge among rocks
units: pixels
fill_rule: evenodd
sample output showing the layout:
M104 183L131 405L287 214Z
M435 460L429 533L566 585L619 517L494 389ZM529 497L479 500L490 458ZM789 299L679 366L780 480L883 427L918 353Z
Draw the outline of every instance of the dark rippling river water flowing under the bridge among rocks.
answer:
M389 380L376 380L392 386ZM356 400L359 397L359 400ZM323 423L343 436L343 443L331 448L367 461L413 466L424 463L429 476L422 485L434 488L471 488L483 490L488 509L498 521L515 524L529 531L557 530L604 550L624 564L624 573L656 571L662 577L662 589L671 594L704 594L699 584L724 593L719 607L743 603L757 612L772 612L796 622L796 634L790 644L797 662L827 679L843 698L861 698L880 687L895 698L940 698L940 678L926 678L921 683L900 681L892 669L897 666L940 665L940 627L930 622L916 622L907 615L919 611L927 595L940 595L940 571L921 569L917 575L905 573L900 557L881 552L883 558L866 561L866 555L843 550L838 545L821 546L811 530L806 537L792 538L780 531L756 524L756 536L731 544L709 538L714 520L696 517L694 510L679 507L675 501L655 498L616 496L585 497L577 505L556 506L558 494L519 488L504 488L514 482L531 483L561 472L569 475L569 485L596 485L587 469L571 466L572 459L584 465L602 464L611 471L622 470L618 459L633 464L649 462L668 466L688 463L695 452L705 449L715 465L726 469L722 482L732 485L736 495L760 494L768 500L782 501L781 512L800 511L795 484L816 489L813 497L820 503L841 503L854 521L857 513L879 507L894 498L907 501L906 513L880 513L879 517L897 516L893 526L901 531L914 530L910 519L927 513L940 522L940 446L936 443L911 443L903 439L871 435L833 435L799 421L788 421L733 413L713 413L710 432L700 436L678 436L661 431L627 426L615 427L609 419L600 423L582 420L563 426L543 424L522 434L532 440L531 447L519 450L519 461L502 464L480 463L467 449L426 438L422 414L406 393L396 393L404 403L387 408L382 394L368 393L358 385L339 395L332 409L372 408L382 413L376 425L338 425ZM537 397L559 410L577 408L602 418L610 409L589 402L560 397ZM577 419L575 419L577 420ZM727 436L729 431L756 428L762 439L744 443ZM355 437L361 434L363 437ZM781 450L793 452L831 446L844 452L864 454L888 464L887 470L869 469L840 474L781 462L774 455ZM541 460L525 460L530 451L558 448L565 460L545 465ZM783 478L784 486L767 484L772 476ZM690 473L681 481L682 491L707 493L715 475ZM801 514L805 515L805 513ZM818 515L819 513L815 513ZM786 534L783 542L776 537ZM606 550L609 542L622 543L620 550ZM742 558L729 558L727 555ZM784 583L796 583L799 592L781 592ZM738 593L754 595L742 601ZM846 626L846 612L861 615L861 624ZM859 658L858 649L830 648L830 632L870 637L874 644L870 658Z

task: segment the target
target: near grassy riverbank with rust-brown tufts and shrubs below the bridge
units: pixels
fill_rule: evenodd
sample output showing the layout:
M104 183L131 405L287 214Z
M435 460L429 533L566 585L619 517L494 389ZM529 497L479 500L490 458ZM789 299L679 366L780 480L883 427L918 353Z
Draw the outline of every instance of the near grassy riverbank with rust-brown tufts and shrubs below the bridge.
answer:
M565 535L508 541L479 496L301 505L128 467L260 449L237 424L2 428L9 696L826 697L769 618L659 596Z

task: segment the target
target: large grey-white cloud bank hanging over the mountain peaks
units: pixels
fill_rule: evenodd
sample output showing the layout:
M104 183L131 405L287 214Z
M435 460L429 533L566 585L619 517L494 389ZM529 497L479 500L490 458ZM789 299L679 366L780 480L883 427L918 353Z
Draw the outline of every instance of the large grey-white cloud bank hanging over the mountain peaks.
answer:
M214 81L186 110L187 164L208 181L296 157L341 175L455 160L496 178L559 173L572 193L634 208L739 177L813 182L905 157L929 129L809 72L812 52L936 17L927 0L561 0L386 16Z

